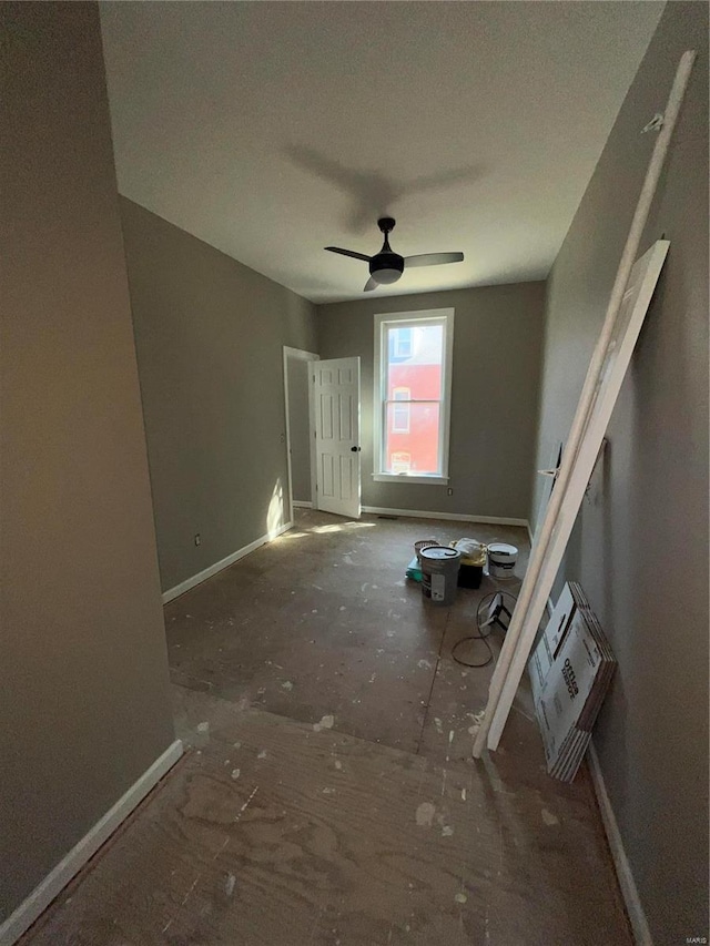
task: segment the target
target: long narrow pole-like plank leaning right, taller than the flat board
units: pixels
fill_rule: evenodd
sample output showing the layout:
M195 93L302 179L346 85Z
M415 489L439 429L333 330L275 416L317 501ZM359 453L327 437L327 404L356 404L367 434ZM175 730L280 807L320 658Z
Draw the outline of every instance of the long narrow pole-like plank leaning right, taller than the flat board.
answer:
M551 578L548 577L549 568L545 570L545 576L542 574L542 569L550 551L552 536L557 531L558 518L560 516L562 503L574 503L574 499L567 499L567 488L575 470L582 441L585 439L589 418L591 416L599 388L599 380L601 378L601 373L608 356L609 344L615 335L615 332L617 330L617 317L619 315L619 311L623 302L623 296L631 274L631 268L633 266L633 261L636 260L639 252L641 235L648 221L651 203L656 194L656 189L658 186L658 181L660 179L663 164L666 162L670 140L673 133L673 129L676 126L678 114L680 112L680 106L682 104L683 95L688 85L688 80L690 78L690 72L692 70L694 59L696 52L693 50L686 51L682 54L678 64L678 69L676 71L676 77L663 115L663 125L656 142L651 160L649 162L646 179L641 187L639 201L636 207L636 212L633 214L631 227L629 230L629 235L627 237L626 245L623 247L623 253L619 262L619 268L611 291L611 296L609 298L609 304L607 306L602 329L589 364L589 369L587 372L587 377L585 379L579 404L577 406L577 411L575 414L569 437L567 439L558 482L556 489L552 491L552 496L550 497L550 502L547 507L547 513L539 536L536 537L536 542L532 549L532 555L530 558L526 578L523 583L523 588L520 589L520 594L518 597L515 613L510 622L510 628L508 629L508 633L506 634L505 645L500 652L500 658L496 667L496 672L494 673L490 683L488 704L486 706L485 715L476 742L474 744L474 755L476 757L480 757L486 744L489 749L497 747L498 739L495 736L490 740L488 739L494 714L496 714L497 712L504 685L506 684L508 674L511 672L511 665L514 662L514 658L516 657L518 645L523 645L524 652L521 652L518 657L516 661L516 668L518 668L520 664L525 665L525 662L529 654L529 649L531 647L531 639L529 643L527 643L528 638L530 638L529 631L525 634L526 643L523 643L523 630L525 628L527 631L527 629L534 623L535 632L537 632L537 627L542 617L545 603L547 601L547 598L552 587L552 582L555 580L555 574L552 574ZM575 515L577 510L578 505L575 508ZM557 535L561 536L562 531L564 530L557 531ZM565 545L567 542L567 538L565 539ZM532 633L532 638L534 635L535 634ZM520 673L517 673L517 670L514 672L514 675L517 674L517 679L515 681L515 684L510 684L506 688L508 693L511 685L515 685L517 688L521 672L523 671L520 671ZM507 719L509 708L510 705L508 699L506 698L506 705L498 714L497 730L499 731L501 731L503 725L505 725L505 720Z

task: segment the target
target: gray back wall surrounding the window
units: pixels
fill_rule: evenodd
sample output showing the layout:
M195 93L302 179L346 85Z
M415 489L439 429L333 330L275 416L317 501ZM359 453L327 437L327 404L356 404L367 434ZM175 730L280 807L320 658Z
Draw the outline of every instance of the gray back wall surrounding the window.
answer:
M362 359L363 503L526 519L544 326L544 283L384 296L321 305L322 358ZM375 313L453 307L454 375L449 487L375 482Z

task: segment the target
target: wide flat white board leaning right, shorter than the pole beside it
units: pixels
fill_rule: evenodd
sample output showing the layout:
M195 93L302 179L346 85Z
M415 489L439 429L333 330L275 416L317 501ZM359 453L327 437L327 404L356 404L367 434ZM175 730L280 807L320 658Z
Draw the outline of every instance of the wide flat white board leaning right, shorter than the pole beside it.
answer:
M577 519L587 484L594 471L597 456L601 448L607 426L611 419L619 391L621 390L621 385L623 384L623 378L631 360L631 355L633 354L633 347L643 325L643 319L669 245L667 240L657 241L631 269L631 276L623 294L619 315L617 316L616 329L609 342L607 356L599 373L594 407L584 434L579 454L574 462L559 516L555 522L547 553L532 593L530 607L527 613L523 616L518 637L510 635L508 641L508 635L506 635L504 649L508 642L511 647L515 647L516 640L517 647L515 648L508 673L503 682L500 695L491 719L488 731L488 749L495 750L498 747L498 741L503 734L513 700L520 683L520 678L525 671L547 599L552 589L552 582L561 564L567 542ZM514 621L515 617L514 612ZM513 621L510 630L514 630Z

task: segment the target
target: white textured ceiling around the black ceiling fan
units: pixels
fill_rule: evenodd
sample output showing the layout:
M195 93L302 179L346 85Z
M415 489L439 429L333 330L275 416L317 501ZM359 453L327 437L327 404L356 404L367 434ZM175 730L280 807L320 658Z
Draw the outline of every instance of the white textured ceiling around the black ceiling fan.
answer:
M109 2L119 190L314 302L544 278L655 2ZM650 118L650 115L649 115Z

